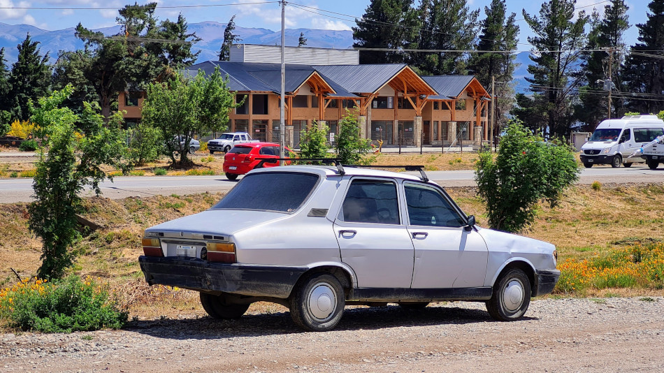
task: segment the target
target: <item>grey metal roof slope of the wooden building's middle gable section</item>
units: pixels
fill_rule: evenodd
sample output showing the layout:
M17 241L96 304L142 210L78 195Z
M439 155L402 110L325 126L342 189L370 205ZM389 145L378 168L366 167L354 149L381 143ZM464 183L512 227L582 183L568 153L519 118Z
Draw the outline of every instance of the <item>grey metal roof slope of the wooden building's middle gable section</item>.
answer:
M347 92L362 94L376 92L405 66L405 64L380 64L313 67L322 75L334 80Z

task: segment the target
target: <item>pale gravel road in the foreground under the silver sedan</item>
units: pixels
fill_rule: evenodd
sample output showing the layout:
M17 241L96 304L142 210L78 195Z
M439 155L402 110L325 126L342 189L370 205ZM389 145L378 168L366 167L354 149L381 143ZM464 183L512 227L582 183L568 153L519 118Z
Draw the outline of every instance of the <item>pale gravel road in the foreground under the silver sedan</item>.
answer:
M0 372L663 372L664 297L546 299L491 321L482 303L346 309L331 332L289 314L0 335Z

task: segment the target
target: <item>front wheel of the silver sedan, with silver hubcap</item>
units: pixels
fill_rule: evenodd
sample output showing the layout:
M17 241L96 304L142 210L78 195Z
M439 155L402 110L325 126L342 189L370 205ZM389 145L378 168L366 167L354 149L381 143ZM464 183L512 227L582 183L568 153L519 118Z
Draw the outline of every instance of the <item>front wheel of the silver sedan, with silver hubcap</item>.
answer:
M501 276L493 286L486 310L498 321L514 321L524 316L531 304L531 281L524 271L514 268Z

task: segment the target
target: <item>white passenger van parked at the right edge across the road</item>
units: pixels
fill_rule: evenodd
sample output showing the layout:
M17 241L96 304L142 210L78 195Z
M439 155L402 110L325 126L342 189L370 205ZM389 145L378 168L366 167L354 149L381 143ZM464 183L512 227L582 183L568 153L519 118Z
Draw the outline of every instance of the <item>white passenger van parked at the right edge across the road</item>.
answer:
M586 167L610 164L612 167L632 166L644 159L633 156L657 136L664 134L664 121L656 115L627 115L621 119L602 121L589 140L581 147L581 161Z

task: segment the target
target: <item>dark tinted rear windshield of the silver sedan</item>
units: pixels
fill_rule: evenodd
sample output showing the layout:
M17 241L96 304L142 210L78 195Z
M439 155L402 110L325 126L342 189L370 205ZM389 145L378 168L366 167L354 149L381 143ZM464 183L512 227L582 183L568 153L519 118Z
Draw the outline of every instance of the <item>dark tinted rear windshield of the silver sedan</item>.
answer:
M212 209L294 212L317 182L318 176L308 173L246 175Z

